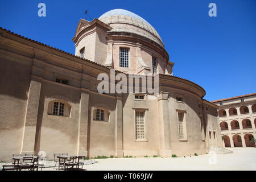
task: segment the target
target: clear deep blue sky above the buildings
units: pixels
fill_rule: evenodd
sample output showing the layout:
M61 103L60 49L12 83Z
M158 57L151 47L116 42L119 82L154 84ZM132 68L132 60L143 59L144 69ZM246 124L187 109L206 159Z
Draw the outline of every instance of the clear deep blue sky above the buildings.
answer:
M40 2L46 4L46 17L38 16ZM208 16L211 2L217 17ZM1 0L0 26L75 54L71 39L86 9L93 19L112 9L146 19L175 62L174 76L202 86L209 101L256 92L255 0Z

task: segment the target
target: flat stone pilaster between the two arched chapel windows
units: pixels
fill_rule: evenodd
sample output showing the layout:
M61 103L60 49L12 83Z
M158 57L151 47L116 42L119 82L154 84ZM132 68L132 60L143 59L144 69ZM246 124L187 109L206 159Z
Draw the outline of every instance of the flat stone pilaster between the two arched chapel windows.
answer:
M88 110L89 110L89 93L82 89L79 107L79 130L77 141L77 155L88 156L87 136L88 136Z

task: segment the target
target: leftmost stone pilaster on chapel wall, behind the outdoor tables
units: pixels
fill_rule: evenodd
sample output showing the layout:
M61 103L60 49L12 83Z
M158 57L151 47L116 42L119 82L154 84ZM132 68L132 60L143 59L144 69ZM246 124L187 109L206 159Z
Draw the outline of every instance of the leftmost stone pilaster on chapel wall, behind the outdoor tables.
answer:
M31 75L30 88L28 90L26 115L22 136L21 154L33 153L35 150L36 123L38 119L38 107L40 100L42 78Z

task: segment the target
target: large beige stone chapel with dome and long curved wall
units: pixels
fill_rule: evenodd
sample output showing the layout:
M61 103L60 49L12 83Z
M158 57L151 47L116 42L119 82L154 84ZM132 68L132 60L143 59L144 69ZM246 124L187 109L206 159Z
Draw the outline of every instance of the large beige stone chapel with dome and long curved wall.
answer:
M201 86L172 76L174 63L146 20L108 11L80 19L72 40L75 55L0 29L0 160L39 151L48 160L55 153L170 157L222 146L218 106L203 99ZM159 76L157 98L98 93L97 77L110 68Z

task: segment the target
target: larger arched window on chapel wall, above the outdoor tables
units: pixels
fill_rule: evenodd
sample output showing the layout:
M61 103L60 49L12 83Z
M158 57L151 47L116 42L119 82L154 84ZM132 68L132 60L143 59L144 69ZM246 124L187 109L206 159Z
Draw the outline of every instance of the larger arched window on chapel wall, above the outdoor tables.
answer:
M71 106L65 101L51 101L48 105L48 114L69 117Z

